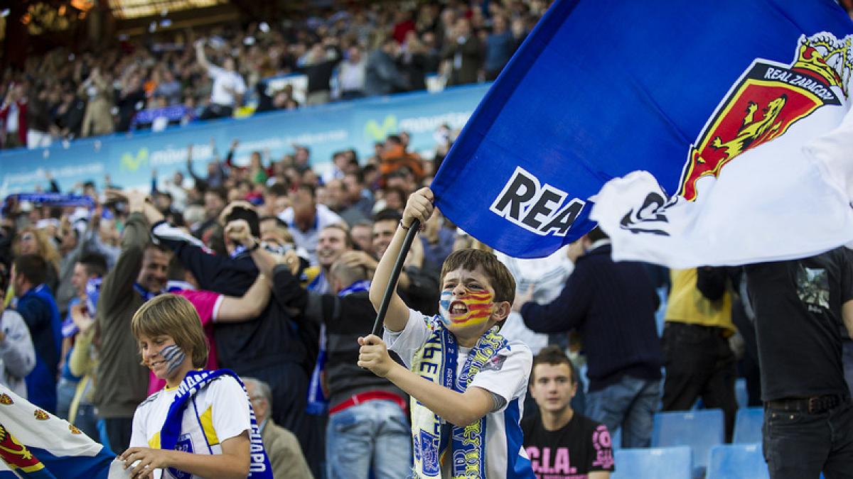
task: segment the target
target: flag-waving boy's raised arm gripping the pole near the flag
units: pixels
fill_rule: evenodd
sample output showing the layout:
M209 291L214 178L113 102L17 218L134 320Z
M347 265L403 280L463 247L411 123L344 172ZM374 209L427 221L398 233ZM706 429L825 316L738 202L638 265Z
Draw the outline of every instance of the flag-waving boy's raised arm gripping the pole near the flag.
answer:
M385 289L388 282L391 280L391 272L394 268L394 263L397 261L397 256L400 254L400 249L403 247L403 240L412 222L419 220L421 224L425 224L430 216L432 216L432 191L429 188L421 188L409 196L409 201L406 202L406 209L403 210L402 224L397 226L397 231L394 233L394 238L391 244L382 255L379 265L376 267L373 282L370 284L370 303L373 303L374 309L377 311L382 303L382 296L385 294ZM388 312L385 315L385 327L388 331L403 331L406 327L406 321L409 320L409 308L403 300L397 295L397 285L394 285L391 303L388 305Z

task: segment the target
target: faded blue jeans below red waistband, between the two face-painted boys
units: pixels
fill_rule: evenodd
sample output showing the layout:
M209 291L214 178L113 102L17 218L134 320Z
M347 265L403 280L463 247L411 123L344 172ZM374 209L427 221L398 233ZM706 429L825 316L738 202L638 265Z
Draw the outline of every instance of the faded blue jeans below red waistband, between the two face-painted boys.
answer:
M412 446L406 413L393 401L367 401L329 415L326 467L328 479L409 477Z

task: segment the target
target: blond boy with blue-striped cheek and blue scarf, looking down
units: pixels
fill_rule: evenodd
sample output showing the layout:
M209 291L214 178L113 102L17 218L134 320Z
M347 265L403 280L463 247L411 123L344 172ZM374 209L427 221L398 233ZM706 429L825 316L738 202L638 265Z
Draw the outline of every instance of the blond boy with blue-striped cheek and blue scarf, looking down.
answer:
M192 303L155 297L136 311L131 330L142 365L166 385L136 408L131 447L119 456L130 476L271 478L240 379L228 370L200 370L208 348Z

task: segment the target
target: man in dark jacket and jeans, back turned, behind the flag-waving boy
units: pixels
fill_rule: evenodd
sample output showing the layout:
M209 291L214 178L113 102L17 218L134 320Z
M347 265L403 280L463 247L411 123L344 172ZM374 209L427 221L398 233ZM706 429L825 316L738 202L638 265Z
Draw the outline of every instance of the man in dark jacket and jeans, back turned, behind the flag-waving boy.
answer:
M516 298L535 332L577 329L587 355L587 411L622 447L649 447L660 399L659 297L641 263L614 263L610 239L595 228L572 245L575 270L550 304Z

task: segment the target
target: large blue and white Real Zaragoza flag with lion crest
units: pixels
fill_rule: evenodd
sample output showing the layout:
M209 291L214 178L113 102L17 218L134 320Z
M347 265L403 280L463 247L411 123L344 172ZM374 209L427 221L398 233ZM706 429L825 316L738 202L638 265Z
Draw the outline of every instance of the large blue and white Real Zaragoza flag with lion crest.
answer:
M514 257L595 222L614 257L673 267L844 244L853 169L819 138L850 109L851 34L832 0L557 0L442 164L437 205Z

